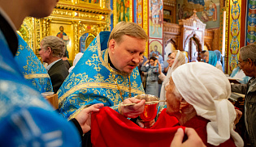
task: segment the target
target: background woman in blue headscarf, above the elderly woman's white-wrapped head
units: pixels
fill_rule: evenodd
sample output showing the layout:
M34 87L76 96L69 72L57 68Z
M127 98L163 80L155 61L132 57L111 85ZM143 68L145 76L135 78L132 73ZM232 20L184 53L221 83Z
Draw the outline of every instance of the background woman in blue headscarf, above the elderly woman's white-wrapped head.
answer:
M215 66L217 69L220 69L221 71L222 70L222 65L219 65L219 63L217 63L217 55L214 51L206 51L204 53L204 56L203 56L203 61L210 64L210 65L213 65Z

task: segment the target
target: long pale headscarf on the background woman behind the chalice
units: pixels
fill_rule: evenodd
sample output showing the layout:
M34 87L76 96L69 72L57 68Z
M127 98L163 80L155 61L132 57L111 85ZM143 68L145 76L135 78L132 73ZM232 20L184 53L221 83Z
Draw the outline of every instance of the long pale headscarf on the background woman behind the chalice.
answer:
M162 83L162 87L161 87L161 93L160 93L160 100L165 100L165 86L167 84L167 82L169 82L170 77L171 77L171 73L180 65L183 65L185 63L185 56L182 52L180 52L179 50L177 50L176 53L176 58L173 62L173 64L171 65L171 68L168 69L167 71L167 77L164 78L163 83ZM163 105L163 103L159 103L160 105Z

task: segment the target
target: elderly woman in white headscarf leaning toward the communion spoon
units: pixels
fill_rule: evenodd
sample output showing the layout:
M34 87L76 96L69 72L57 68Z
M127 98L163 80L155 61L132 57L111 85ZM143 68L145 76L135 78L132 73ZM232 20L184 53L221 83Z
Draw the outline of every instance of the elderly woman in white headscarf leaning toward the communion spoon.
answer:
M219 69L202 62L180 65L166 90L167 114L194 128L207 146L243 146L233 129L236 111L228 101L230 83Z

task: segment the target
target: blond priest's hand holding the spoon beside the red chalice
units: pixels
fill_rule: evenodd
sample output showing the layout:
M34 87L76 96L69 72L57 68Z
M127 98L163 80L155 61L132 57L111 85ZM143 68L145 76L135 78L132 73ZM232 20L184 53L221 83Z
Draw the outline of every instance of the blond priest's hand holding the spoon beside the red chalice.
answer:
M135 98L128 98L124 99L123 104L126 103L137 103L131 106L123 106L122 103L119 104L119 112L121 115L129 118L136 118L137 116L141 115L144 111L145 107L145 99L135 99Z

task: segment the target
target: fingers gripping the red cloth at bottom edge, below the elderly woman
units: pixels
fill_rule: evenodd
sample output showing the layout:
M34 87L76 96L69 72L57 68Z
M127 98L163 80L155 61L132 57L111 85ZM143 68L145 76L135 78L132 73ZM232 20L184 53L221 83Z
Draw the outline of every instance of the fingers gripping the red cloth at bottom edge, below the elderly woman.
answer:
M188 139L184 142L183 137L184 133L188 136ZM171 147L206 147L202 142L200 136L198 136L197 132L193 128L185 128L183 132L182 128L178 128L173 140L171 141Z

